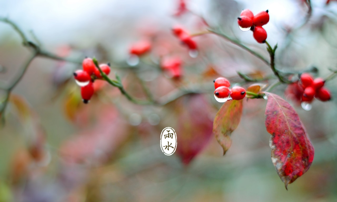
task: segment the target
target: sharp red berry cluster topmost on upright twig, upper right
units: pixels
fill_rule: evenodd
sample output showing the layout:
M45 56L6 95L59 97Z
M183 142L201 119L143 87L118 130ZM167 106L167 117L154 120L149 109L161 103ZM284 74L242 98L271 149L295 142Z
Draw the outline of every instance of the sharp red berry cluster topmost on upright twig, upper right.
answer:
M241 12L238 18L238 24L242 28L247 28L253 31L254 39L259 43L264 43L267 39L267 32L262 27L269 22L268 10L253 14L249 9L245 9Z

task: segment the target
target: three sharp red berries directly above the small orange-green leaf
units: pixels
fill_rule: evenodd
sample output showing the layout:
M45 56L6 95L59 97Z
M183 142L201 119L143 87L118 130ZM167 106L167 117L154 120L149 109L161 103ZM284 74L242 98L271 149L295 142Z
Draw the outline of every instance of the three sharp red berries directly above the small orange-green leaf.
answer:
M246 90L235 86L231 88L231 83L226 78L219 77L214 82L214 96L217 98L228 98L228 100L242 100L246 96Z

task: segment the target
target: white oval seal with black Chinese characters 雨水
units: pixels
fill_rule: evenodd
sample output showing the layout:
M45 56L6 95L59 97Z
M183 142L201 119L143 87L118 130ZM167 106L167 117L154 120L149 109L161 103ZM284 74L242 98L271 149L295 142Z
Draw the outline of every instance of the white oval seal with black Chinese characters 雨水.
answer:
M160 148L161 151L167 155L173 155L177 148L177 134L171 127L166 127L160 134Z

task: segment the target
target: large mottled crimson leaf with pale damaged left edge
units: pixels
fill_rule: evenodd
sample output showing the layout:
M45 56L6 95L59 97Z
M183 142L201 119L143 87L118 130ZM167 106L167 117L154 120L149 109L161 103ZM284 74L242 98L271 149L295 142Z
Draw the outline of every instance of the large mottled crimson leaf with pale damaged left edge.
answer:
M305 173L314 158L314 148L296 111L278 95L266 93L266 128L272 162L287 189Z

